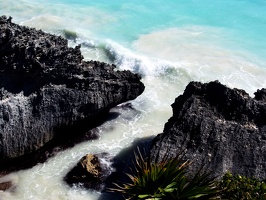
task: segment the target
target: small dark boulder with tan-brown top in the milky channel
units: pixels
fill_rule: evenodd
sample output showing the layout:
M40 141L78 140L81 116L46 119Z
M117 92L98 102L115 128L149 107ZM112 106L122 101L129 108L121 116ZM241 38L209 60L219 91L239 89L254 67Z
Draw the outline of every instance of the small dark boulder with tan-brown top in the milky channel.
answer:
M108 159L106 154L100 156L105 162ZM101 162L98 156L87 154L65 176L64 180L71 186L79 185L100 191L104 188L104 181L110 173L111 167Z

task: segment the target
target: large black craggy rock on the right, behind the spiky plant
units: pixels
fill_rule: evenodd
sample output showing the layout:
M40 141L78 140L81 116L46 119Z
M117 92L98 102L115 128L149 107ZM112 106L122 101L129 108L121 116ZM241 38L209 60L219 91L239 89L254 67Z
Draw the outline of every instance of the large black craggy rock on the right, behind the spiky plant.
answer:
M251 98L218 81L191 82L172 104L173 116L150 151L153 160L185 149L194 162L221 176L226 171L266 178L266 90ZM157 154L158 153L158 154Z

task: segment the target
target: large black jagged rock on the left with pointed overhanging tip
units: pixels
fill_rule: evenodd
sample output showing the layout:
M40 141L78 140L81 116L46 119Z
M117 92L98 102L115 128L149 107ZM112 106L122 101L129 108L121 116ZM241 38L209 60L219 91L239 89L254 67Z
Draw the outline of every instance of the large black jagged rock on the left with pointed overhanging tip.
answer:
M77 134L143 90L139 75L85 62L79 46L0 17L0 163Z

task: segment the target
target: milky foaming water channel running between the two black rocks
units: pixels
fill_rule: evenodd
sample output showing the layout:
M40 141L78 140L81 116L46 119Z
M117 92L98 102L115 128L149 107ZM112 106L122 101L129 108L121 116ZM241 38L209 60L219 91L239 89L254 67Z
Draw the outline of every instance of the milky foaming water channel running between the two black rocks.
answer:
M97 128L100 139L80 143L58 153L44 164L14 173L19 177L15 190L1 192L0 199L98 199L100 194L97 192L68 187L63 181L66 173L87 153L108 152L110 156L115 156L123 148L130 146L136 138L160 133L171 115L169 105L177 92L183 89L182 86L172 88L167 82L156 77L146 77L143 82L146 86L145 92L132 101L131 106L120 105L112 109L110 112L117 113L117 117ZM154 82L158 85L155 86Z

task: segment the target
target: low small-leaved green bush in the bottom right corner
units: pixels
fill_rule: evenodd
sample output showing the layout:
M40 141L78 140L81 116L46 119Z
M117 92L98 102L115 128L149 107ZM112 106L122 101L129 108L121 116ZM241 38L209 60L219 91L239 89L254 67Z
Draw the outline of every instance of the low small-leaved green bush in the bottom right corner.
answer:
M218 183L222 188L221 196L230 200L265 200L266 183L255 178L233 176L227 172Z

